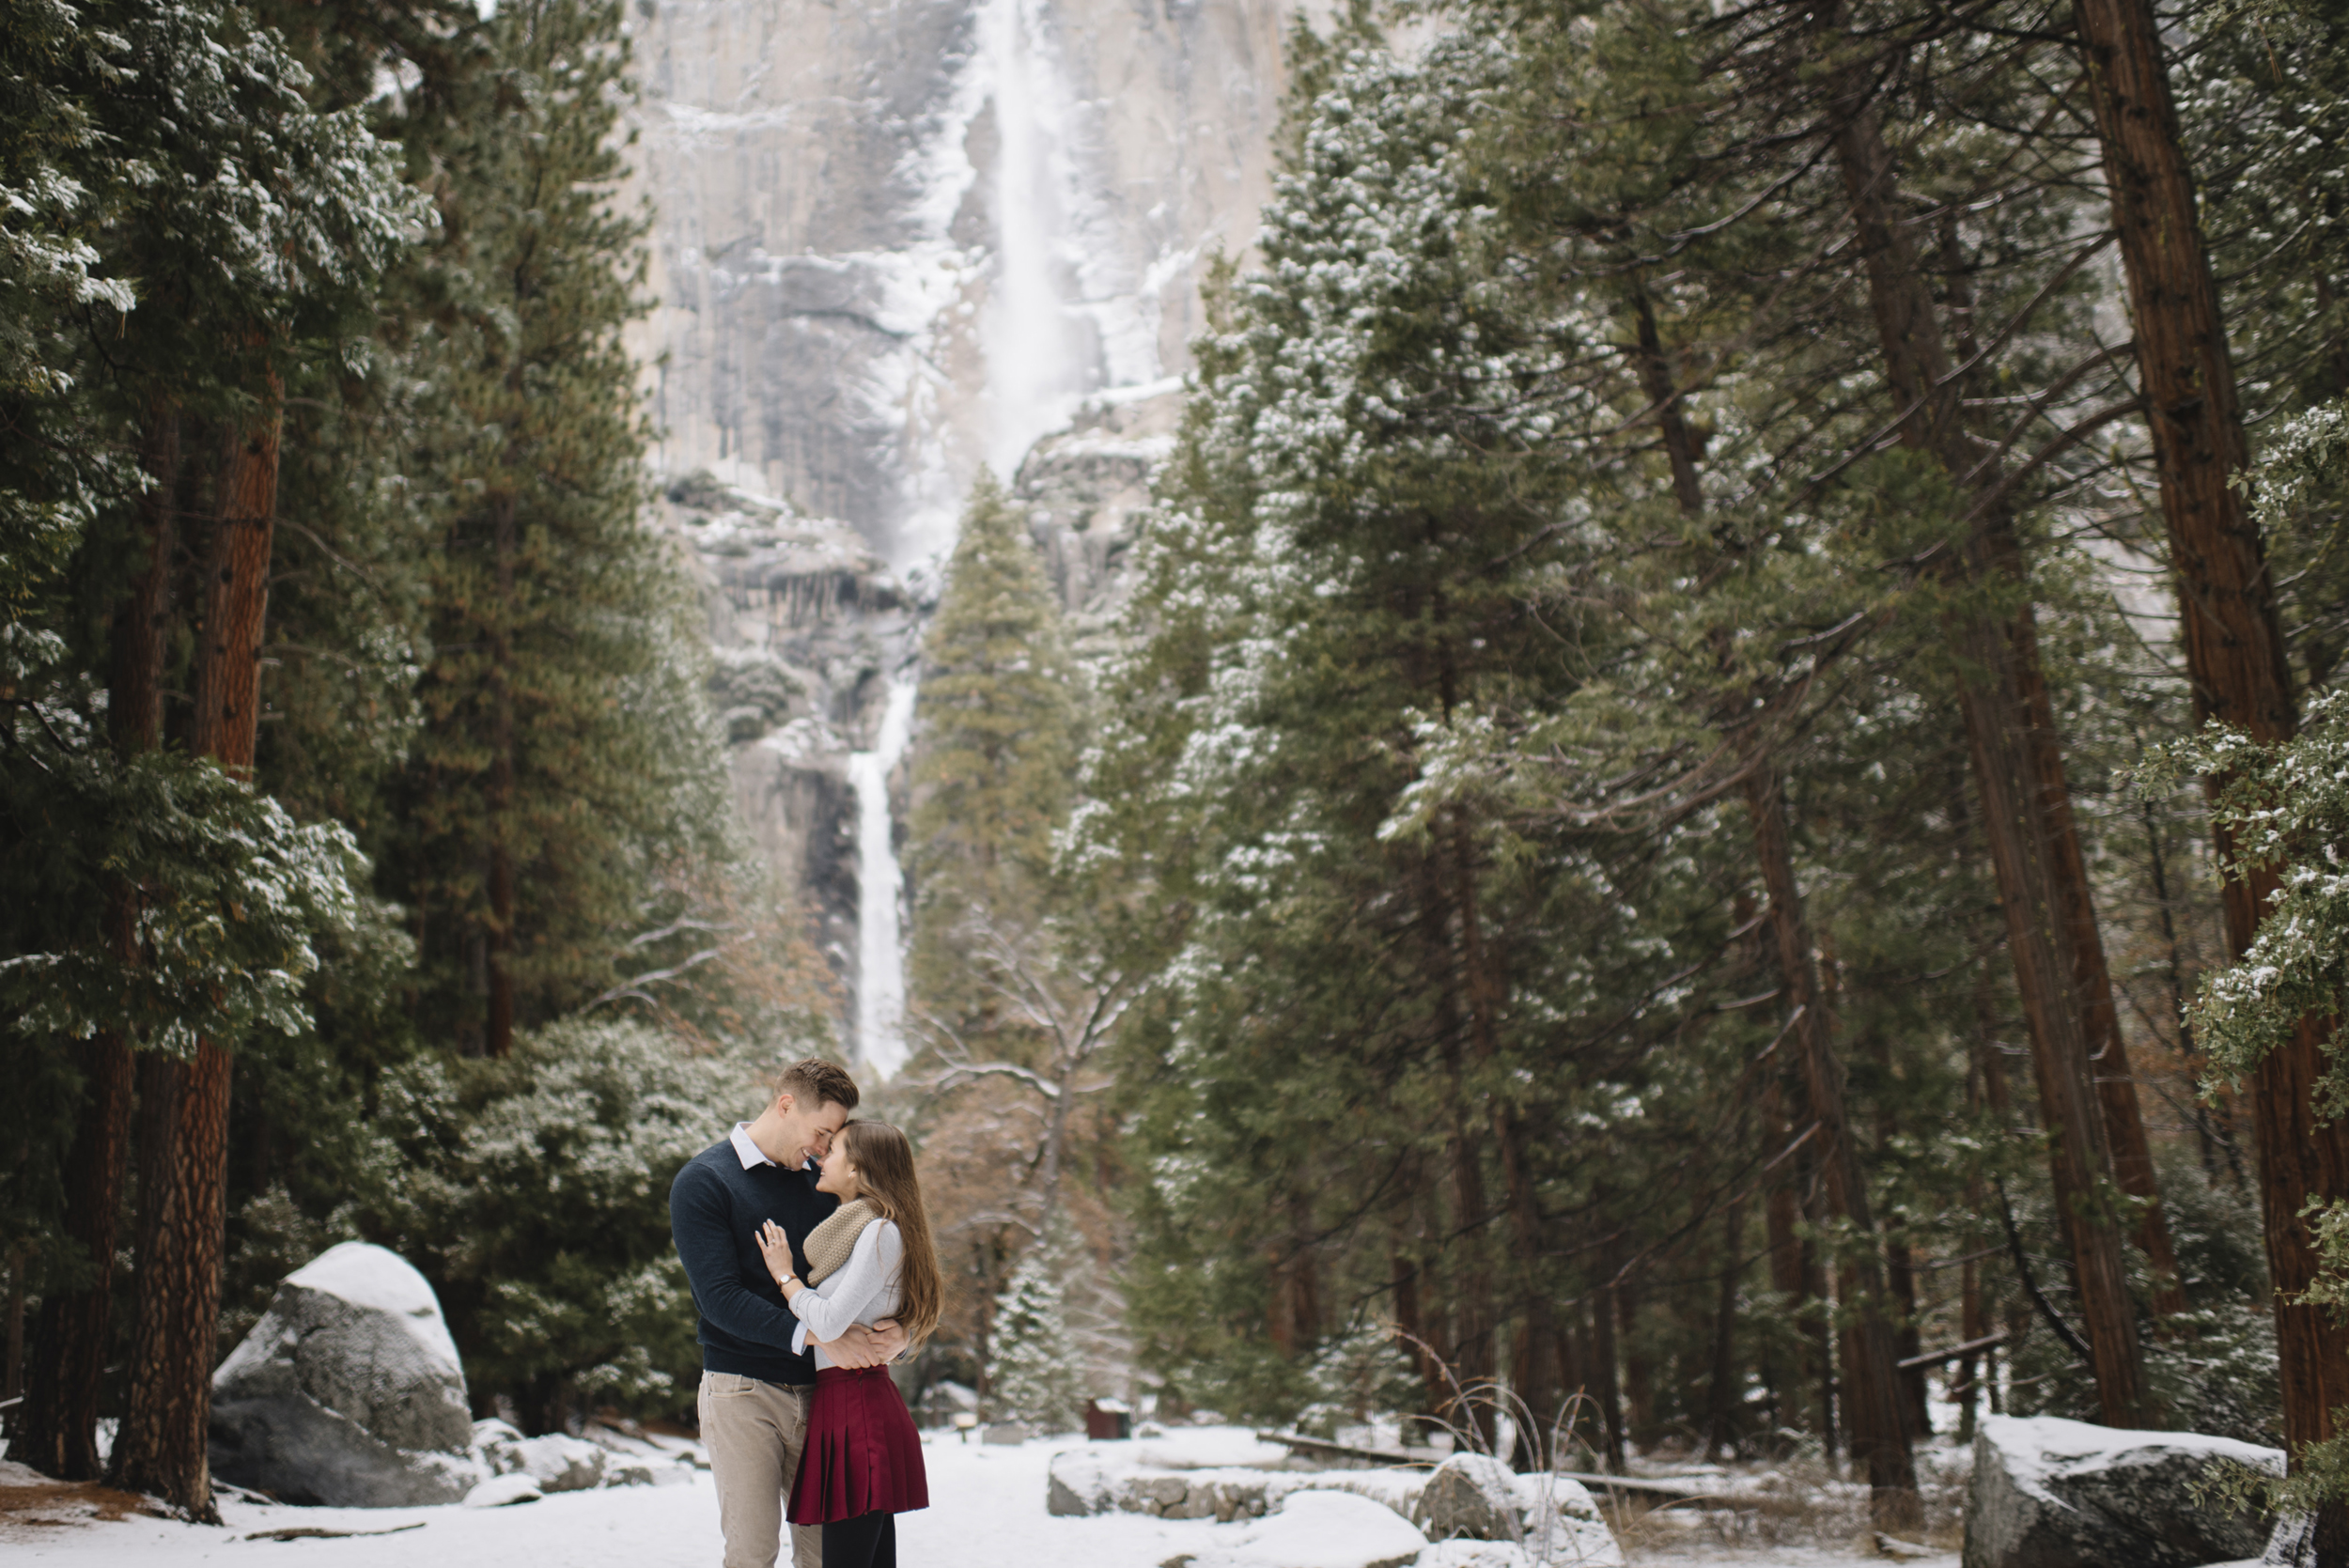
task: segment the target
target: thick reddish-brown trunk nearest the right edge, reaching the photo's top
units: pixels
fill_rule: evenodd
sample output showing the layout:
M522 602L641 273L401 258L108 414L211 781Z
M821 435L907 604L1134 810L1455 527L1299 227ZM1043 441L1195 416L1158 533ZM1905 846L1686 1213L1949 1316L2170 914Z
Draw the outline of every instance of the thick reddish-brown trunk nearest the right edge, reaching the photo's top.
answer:
M2074 14L2138 329L2145 423L2161 474L2194 716L2283 742L2297 730L2300 711L2267 552L2234 488L2250 448L2159 21L2147 0L2081 0ZM2210 779L2213 789L2220 784ZM2234 845L2225 829L2217 838L2225 859ZM2274 887L2271 876L2227 880L2222 904L2234 958L2250 948ZM2307 1019L2253 1075L2283 1439L2295 1465L2302 1444L2333 1437L2333 1413L2349 1406L2349 1326L2330 1322L2323 1307L2290 1305L2318 1268L2302 1207L2311 1197L2349 1195L2349 1127L2318 1122L2311 1099L2328 1038L2328 1021ZM2326 1568L2349 1563L2349 1505L2323 1512L2316 1554Z

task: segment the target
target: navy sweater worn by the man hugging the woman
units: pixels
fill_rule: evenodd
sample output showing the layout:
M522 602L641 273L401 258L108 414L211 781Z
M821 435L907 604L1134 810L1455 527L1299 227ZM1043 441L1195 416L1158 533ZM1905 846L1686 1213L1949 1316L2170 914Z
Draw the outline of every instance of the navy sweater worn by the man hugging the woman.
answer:
M792 1237L792 1268L808 1275L808 1232L841 1199L815 1190L815 1171L780 1164L742 1169L731 1138L698 1153L669 1183L669 1235L677 1261L693 1282L702 1314L702 1371L815 1383L815 1357L792 1354L799 1319L782 1305L782 1286L759 1253L759 1223L775 1221Z

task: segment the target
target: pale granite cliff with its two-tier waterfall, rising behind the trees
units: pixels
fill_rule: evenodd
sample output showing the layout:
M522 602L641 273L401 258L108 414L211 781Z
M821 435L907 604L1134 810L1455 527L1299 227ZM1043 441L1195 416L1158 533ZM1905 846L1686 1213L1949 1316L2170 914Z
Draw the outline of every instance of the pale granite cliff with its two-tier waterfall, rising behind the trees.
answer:
M867 1056L895 864L864 850L902 833L904 779L855 756L904 707L963 491L1012 477L1099 648L1198 279L1271 190L1294 9L637 0L667 521L702 566L738 798ZM895 831L860 829L860 777Z

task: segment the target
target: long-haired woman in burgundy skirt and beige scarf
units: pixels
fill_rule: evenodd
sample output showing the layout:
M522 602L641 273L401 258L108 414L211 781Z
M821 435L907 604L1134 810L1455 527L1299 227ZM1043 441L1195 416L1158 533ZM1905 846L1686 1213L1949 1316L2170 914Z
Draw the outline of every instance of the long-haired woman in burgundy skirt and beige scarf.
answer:
M824 1528L824 1568L897 1568L897 1514L930 1507L921 1437L888 1366L834 1366L822 1340L848 1324L895 1317L909 1345L937 1329L937 1251L921 1207L914 1145L888 1122L848 1122L824 1155L817 1192L841 1207L808 1232L808 1277L792 1272L792 1242L775 1221L759 1251L799 1329L815 1345L815 1404L792 1481L792 1523Z

